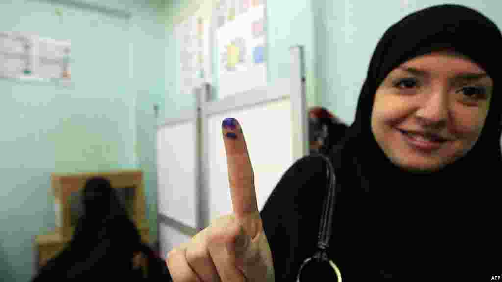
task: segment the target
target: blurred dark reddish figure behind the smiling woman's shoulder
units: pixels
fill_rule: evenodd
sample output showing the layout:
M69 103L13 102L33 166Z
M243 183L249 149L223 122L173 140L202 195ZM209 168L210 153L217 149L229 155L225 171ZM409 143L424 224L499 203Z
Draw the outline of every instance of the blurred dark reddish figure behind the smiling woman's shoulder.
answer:
M345 134L347 125L324 107L309 109L310 154L328 155Z

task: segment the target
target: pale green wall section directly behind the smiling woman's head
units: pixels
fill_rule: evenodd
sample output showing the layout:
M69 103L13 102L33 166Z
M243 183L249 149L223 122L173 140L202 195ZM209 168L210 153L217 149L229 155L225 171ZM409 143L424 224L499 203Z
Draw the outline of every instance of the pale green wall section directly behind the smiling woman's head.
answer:
M344 0L315 1L319 53L319 103L348 124L354 121L359 91L371 54L384 32L407 14L433 5L452 3L479 10L502 27L500 1ZM445 15L446 16L446 15ZM466 38L468 40L468 38Z

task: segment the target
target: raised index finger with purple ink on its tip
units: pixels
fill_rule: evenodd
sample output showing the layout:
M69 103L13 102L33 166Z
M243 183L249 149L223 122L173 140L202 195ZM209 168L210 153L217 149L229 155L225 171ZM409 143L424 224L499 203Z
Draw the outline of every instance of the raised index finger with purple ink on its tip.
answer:
M225 118L221 125L233 212L237 219L259 214L255 175L247 153L242 128L232 117Z

